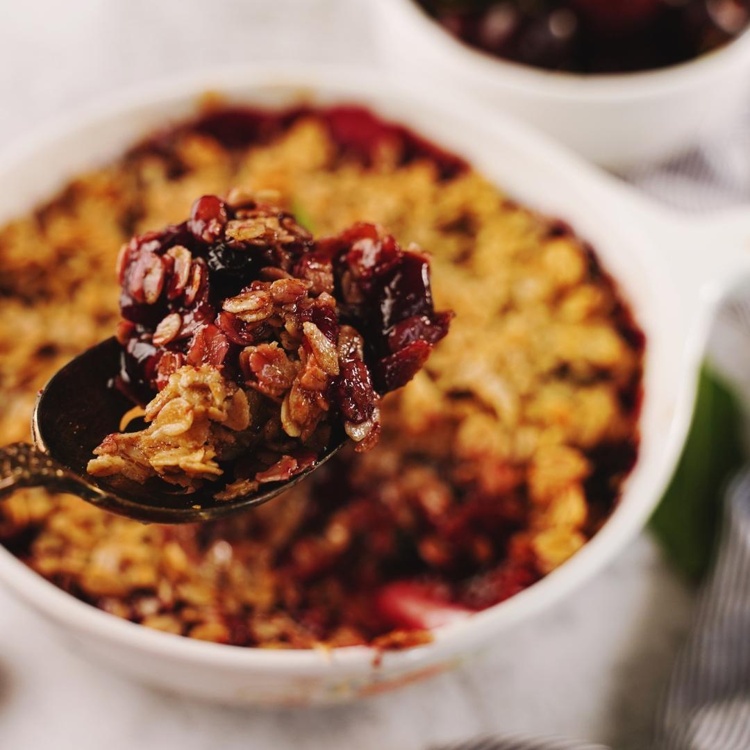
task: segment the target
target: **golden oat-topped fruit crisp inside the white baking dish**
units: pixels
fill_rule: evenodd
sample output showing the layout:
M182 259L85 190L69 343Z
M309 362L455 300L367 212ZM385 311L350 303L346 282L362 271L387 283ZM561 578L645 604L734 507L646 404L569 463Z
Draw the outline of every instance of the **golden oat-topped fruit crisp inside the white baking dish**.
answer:
M37 389L111 335L123 242L233 186L277 190L315 236L367 219L429 248L450 334L380 401L374 449L344 449L274 502L144 526L19 490L0 503L7 549L71 595L169 633L405 646L532 585L595 535L638 449L645 344L619 290L570 226L353 107L214 107L2 227L1 440L27 437Z

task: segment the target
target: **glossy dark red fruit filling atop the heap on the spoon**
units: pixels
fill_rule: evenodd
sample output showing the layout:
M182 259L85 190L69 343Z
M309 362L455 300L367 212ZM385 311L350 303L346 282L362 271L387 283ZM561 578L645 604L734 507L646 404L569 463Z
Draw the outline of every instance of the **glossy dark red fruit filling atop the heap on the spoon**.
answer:
M304 344L316 361L338 357L326 398L362 425L380 395L422 368L452 319L434 310L421 251L402 251L368 223L316 242L292 214L239 191L226 201L202 196L183 223L133 238L121 250L118 278L118 386L140 403L183 365L213 365L240 386L252 382L281 398L287 359L257 346L284 335L269 317L277 305L299 329L312 323L320 332L317 343Z

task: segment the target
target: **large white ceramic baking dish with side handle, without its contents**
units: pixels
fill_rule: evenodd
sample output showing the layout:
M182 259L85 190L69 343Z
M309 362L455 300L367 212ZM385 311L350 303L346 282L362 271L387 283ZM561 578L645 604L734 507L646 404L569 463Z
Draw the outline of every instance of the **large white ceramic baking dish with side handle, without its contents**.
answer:
M568 562L508 601L438 630L434 643L387 653L380 662L365 647L264 651L149 630L83 604L2 548L0 581L104 667L208 700L325 703L440 673L564 597L641 529L685 438L712 300L721 280L750 268L750 218L674 217L528 127L475 104L308 66L220 71L148 86L28 136L0 154L0 221L188 115L206 91L269 106L300 99L362 104L463 155L521 202L569 220L597 249L648 339L637 465L610 520Z

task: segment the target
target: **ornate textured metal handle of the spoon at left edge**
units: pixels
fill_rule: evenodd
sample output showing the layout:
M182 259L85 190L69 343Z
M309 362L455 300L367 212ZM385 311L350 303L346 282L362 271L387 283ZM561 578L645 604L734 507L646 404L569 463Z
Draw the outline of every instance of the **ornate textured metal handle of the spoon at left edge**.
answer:
M0 448L0 497L19 487L46 487L81 497L92 494L91 488L74 472L29 443L11 443Z

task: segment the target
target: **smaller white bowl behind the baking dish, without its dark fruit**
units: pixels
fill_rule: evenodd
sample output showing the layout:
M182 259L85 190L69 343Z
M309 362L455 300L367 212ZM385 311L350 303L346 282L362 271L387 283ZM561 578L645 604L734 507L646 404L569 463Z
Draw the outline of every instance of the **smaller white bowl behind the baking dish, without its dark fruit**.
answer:
M622 75L556 73L460 42L413 0L372 0L383 63L515 115L595 163L664 160L739 120L750 94L750 31L689 62Z

